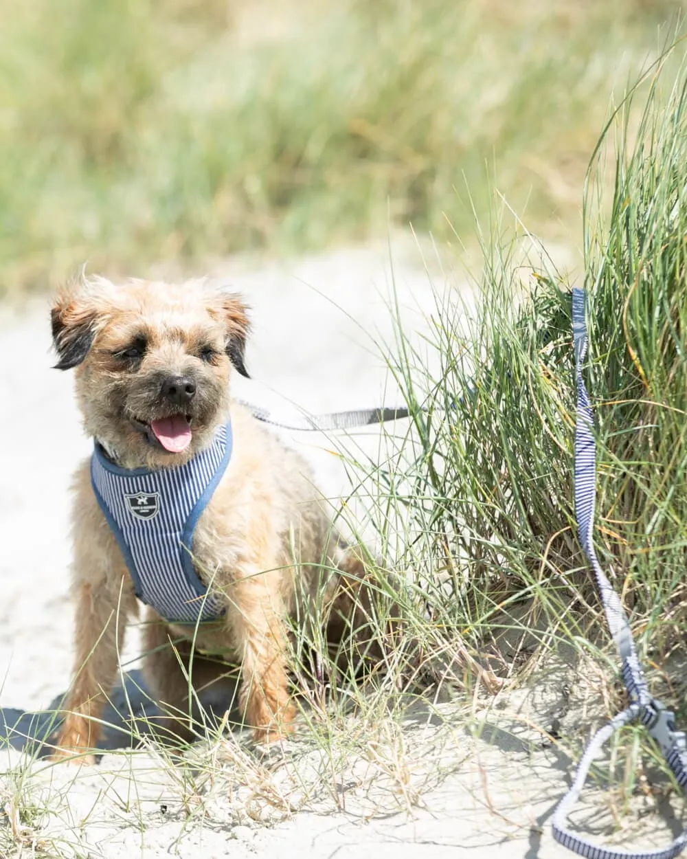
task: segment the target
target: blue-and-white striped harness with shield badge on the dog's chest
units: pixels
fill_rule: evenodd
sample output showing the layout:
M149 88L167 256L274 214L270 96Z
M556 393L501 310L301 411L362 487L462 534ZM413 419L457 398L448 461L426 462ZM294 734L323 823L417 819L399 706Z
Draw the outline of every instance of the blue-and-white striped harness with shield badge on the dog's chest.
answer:
M192 539L231 458L231 423L183 466L151 470L114 465L96 442L91 484L125 558L139 600L181 624L214 620L221 600L193 567Z

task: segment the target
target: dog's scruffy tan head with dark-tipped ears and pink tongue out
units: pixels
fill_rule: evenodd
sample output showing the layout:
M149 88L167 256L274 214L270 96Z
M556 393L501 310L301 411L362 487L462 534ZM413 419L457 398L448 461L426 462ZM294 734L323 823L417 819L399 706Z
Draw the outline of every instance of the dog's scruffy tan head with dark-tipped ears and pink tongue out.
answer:
M86 431L125 468L178 466L207 446L232 365L247 375L247 331L240 298L204 281L82 279L52 308L56 366L76 367Z

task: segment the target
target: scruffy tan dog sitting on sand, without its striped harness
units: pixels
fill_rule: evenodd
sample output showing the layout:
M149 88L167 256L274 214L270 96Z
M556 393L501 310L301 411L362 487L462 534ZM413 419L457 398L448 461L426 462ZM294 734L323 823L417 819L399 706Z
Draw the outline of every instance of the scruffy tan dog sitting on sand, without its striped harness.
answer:
M204 281L81 278L52 308L57 367L76 368L83 424L106 474L177 473L230 422L228 465L187 547L217 617L175 623L147 607L144 670L156 700L184 713L189 689L179 658L188 667L193 652L193 677L206 684L222 667L203 653L231 649L241 666L246 723L256 739L270 741L289 731L295 715L287 618L302 595L337 590L332 569L355 578L362 564L340 548L305 462L229 397L233 369L246 375L247 332L240 297ZM131 565L96 497L92 467L84 462L74 481L76 655L57 757L96 743L125 628L138 611ZM154 496L130 494L128 512L137 521L157 515ZM344 599L353 604L350 593Z

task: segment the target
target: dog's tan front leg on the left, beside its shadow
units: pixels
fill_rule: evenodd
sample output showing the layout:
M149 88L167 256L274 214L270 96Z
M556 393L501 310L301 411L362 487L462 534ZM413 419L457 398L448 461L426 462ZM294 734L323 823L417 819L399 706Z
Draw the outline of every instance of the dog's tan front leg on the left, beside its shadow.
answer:
M94 763L87 750L99 739L98 720L117 677L127 621L136 612L128 577L119 576L121 588L115 581L102 575L81 581L77 578L75 582L74 670L53 760L72 758L75 763Z

